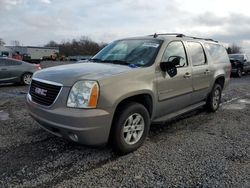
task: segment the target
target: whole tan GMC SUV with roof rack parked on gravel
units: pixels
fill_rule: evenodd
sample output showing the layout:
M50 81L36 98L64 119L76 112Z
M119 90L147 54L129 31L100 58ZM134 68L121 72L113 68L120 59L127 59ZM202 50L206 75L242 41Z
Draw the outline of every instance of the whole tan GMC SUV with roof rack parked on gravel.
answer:
M154 34L114 41L86 63L33 75L27 107L50 133L85 145L140 147L151 123L205 106L215 112L231 64L212 39Z

